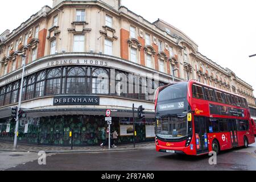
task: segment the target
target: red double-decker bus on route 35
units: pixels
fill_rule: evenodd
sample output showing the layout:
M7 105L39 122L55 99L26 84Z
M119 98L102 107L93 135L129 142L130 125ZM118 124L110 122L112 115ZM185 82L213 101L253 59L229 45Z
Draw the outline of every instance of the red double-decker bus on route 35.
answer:
M255 142L245 98L195 80L158 88L156 151L203 155Z

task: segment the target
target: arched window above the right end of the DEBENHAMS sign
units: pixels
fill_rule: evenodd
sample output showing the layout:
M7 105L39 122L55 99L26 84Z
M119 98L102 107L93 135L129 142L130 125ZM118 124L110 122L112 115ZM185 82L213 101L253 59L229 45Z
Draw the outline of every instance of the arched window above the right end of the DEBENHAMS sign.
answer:
M109 94L109 75L105 69L95 69L92 74L92 93Z

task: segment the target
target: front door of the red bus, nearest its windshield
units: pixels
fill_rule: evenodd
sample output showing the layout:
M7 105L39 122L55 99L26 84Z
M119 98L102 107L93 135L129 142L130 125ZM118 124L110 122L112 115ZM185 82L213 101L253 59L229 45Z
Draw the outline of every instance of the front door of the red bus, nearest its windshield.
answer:
M195 117L195 135L197 154L209 152L207 138L207 123L204 117Z

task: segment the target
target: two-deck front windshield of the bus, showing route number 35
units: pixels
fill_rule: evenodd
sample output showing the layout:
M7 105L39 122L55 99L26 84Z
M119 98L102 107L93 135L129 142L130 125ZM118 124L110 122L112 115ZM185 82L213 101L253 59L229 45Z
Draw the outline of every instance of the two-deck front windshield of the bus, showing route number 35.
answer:
M188 82L179 82L160 90L156 103L156 135L163 139L186 137L188 126Z

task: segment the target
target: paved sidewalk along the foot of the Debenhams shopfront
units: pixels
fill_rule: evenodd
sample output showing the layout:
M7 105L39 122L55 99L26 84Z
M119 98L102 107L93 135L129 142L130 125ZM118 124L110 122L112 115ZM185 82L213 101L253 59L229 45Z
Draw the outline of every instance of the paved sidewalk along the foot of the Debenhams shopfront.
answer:
M45 151L47 154L49 153L72 153L72 152L109 152L109 151L129 151L129 150L140 150L140 149L152 149L155 148L155 143L138 143L133 147L133 144L127 144L118 146L115 148L111 148L109 150L108 147L100 147L100 146L92 146L92 147L57 147L57 146L34 146L27 144L19 144L18 148L13 148L13 143L11 142L2 142L0 141L0 151L9 151L9 152L39 152Z

